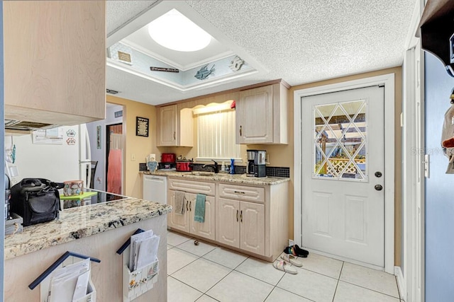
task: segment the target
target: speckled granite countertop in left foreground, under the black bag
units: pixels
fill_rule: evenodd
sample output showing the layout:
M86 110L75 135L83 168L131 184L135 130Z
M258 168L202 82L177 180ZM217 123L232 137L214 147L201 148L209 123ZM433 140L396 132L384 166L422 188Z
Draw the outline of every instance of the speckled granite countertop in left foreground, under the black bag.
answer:
M167 204L131 198L60 211L60 219L5 236L5 260L167 214Z

